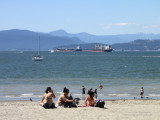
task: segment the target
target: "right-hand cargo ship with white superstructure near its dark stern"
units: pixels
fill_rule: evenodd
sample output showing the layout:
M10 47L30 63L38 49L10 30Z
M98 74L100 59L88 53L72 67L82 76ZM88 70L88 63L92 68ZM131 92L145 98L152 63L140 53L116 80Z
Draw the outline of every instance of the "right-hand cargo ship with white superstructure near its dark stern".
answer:
M111 52L113 49L110 45L95 45L95 48L92 49L92 52Z

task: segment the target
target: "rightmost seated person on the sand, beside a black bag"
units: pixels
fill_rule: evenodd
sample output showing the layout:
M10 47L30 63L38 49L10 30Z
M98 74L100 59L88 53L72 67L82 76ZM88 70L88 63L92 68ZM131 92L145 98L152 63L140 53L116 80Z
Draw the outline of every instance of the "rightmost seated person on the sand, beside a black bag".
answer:
M95 104L95 101L96 101L96 99L94 98L94 92L93 91L88 91L88 95L89 96L85 100L85 105L82 105L82 106L84 106L84 107L87 107L87 106L94 107L94 104Z

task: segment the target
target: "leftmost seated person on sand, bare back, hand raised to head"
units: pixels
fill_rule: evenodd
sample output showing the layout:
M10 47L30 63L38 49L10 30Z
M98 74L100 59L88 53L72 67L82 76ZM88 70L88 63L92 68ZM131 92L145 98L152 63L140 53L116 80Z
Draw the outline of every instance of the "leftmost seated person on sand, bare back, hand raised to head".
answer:
M42 100L40 102L40 105L44 108L55 108L55 104L52 101L52 98L55 98L56 96L53 93L53 90L51 87L47 87Z

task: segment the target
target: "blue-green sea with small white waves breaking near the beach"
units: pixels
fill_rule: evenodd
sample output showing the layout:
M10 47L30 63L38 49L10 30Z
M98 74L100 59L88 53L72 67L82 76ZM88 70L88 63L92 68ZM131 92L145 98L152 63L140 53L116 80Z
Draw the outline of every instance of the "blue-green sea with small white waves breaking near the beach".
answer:
M58 97L64 87L82 99L81 86L98 89L101 99L160 99L160 52L0 52L0 100L40 101L50 86Z

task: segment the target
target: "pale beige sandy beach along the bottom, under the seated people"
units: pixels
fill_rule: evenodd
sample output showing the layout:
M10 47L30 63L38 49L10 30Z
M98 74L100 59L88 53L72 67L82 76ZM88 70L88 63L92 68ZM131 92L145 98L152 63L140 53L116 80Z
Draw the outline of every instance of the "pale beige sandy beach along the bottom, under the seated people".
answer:
M81 101L83 102L83 101ZM1 120L159 120L160 100L107 100L96 107L44 109L39 102L0 102Z

